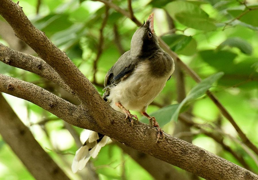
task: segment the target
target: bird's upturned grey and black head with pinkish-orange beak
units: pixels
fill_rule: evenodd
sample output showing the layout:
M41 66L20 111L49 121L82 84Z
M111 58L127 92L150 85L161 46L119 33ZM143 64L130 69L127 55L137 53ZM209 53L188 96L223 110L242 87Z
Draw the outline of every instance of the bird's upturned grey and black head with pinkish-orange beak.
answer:
M131 54L135 56L148 56L159 49L157 35L153 28L154 13L150 14L146 22L140 26L132 36Z

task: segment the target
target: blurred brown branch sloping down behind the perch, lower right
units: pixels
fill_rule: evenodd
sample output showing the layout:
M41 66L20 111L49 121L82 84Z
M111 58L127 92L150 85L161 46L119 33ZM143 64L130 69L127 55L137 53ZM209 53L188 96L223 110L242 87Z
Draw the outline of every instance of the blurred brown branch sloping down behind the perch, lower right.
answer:
M191 117L189 115L186 115L186 114L180 114L179 115L179 120L188 124L188 125L191 125L191 126L194 126L198 129L200 129L200 133L203 133L205 134L206 136L208 137L211 137L212 139L214 139L217 143L219 143L222 148L226 151L228 151L230 154L232 154L232 156L234 156L236 158L236 160L238 160L242 165L243 167L245 167L246 169L250 170L251 171L251 168L250 166L245 162L245 160L243 159L243 157L239 154L237 154L234 150L232 150L228 145L226 145L224 142L223 142L223 135L221 134L215 134L215 133L211 133L205 129L202 128L202 124L198 124L198 123L195 123L191 120Z

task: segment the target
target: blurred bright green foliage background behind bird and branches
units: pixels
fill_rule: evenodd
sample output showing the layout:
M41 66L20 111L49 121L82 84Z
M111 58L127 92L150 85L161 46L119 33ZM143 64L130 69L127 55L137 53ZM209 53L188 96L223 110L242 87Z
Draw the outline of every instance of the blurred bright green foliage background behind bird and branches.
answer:
M125 0L114 4L128 10ZM107 9L98 1L78 0L21 0L19 5L30 21L44 31L47 37L69 58L95 85L102 95L105 73L130 49L130 40L137 26L122 14ZM143 22L151 12L155 13L155 32L201 78L224 72L210 89L233 116L247 137L258 145L258 1L256 0L135 0L132 9ZM26 45L11 39L13 31L0 17L0 42L11 48L25 51ZM6 30L5 30L6 28ZM179 70L179 67L176 65ZM33 73L1 63L0 73L39 85L76 104L62 89ZM243 166L235 156L243 158L251 171L258 173L258 158L241 141L236 130L205 95L187 102L181 112L191 116L193 125L175 133L179 121L171 120L179 94L189 91L196 82L184 72L184 81L178 87L177 76L155 98L147 112L154 114L166 133L188 138L202 147L235 164ZM180 89L181 88L181 89ZM87 91L87 90L85 90ZM72 179L83 179L83 173L71 173L71 162L78 149L78 137L83 129L71 127L42 108L22 99L4 94L8 102L32 131L56 163ZM169 106L170 105L170 106ZM165 108L162 108L166 106ZM160 109L161 108L161 109ZM136 113L138 116L140 114ZM148 122L146 118L141 118ZM76 135L72 135L75 132ZM207 133L208 132L208 133ZM212 136L212 135L214 136ZM77 137L77 139L76 139ZM219 137L220 143L214 139ZM77 141L77 144L76 144ZM153 179L153 177L116 144L103 147L91 168L99 179ZM183 172L183 170L177 169ZM86 172L87 173L87 172ZM0 138L0 179L34 179L23 164Z

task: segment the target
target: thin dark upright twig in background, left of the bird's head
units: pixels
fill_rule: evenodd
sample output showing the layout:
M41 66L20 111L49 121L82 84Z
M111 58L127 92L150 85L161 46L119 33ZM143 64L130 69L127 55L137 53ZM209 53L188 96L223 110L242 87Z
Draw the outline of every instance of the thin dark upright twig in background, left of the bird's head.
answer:
M107 20L108 20L108 16L109 16L108 10L109 10L109 7L106 6L105 18L103 19L103 22L102 22L101 27L99 29L99 45L98 45L98 49L97 49L97 57L93 61L93 84L97 83L97 80L96 80L97 63L98 63L100 55L102 54L102 51L103 51L103 44L104 44L103 30L104 30L104 28L107 24Z

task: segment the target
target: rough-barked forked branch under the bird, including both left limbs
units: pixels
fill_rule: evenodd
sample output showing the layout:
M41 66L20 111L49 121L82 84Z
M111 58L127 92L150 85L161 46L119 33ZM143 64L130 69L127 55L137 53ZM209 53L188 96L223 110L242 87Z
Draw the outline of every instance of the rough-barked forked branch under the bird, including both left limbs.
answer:
M30 45L56 70L79 97L82 105L75 107L31 83L4 75L0 76L0 91L30 100L72 125L103 133L129 147L206 179L258 179L254 173L171 135L165 134L163 141L155 143L156 129L144 123L139 122L130 129L130 123L124 120L124 114L116 112L103 101L67 55L31 24L19 5L3 0L0 14L12 26L16 36ZM65 112L66 110L68 111Z

